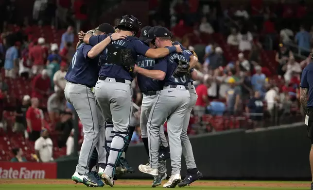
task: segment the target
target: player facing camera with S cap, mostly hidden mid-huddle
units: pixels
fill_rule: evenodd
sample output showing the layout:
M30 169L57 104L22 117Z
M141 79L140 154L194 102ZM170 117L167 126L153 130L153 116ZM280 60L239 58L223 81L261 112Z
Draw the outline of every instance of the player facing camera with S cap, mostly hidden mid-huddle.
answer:
M149 38L148 36L153 36L154 27L145 26L141 29L139 40L143 41L150 48L155 48L155 46L151 43L153 38ZM147 58L139 55L137 60L137 65L139 67L152 70L154 69L155 60L151 58ZM162 90L162 84L160 81L156 79L148 78L144 75L137 75L137 82L140 91L142 92L142 104L141 104L141 113L140 113L140 130L141 130L141 139L144 144L146 153L149 157L149 144L148 144L148 136L147 136L147 122L149 118L149 114L153 103L156 101L156 97L159 94L160 90ZM158 163L158 175L154 177L154 181L152 183L152 187L159 186L161 181L167 177L166 174L166 162L165 159L170 157L170 147L167 143L163 125L160 127L159 131L160 137L160 146L162 147L159 152L159 163ZM160 160L160 158L162 160Z

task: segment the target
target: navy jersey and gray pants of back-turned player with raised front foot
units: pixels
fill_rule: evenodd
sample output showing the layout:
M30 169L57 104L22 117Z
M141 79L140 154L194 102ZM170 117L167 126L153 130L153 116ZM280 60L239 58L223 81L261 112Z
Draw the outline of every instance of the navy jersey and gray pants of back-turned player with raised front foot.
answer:
M180 135L190 102L187 76L181 78L175 78L173 76L174 70L177 67L177 63L174 60L189 61L191 55L190 51L184 51L182 54L172 53L158 60L154 68L155 70L163 71L166 76L163 80L163 90L157 96L147 124L150 165L151 168L157 168L159 127L167 120L172 175L180 174L182 155Z

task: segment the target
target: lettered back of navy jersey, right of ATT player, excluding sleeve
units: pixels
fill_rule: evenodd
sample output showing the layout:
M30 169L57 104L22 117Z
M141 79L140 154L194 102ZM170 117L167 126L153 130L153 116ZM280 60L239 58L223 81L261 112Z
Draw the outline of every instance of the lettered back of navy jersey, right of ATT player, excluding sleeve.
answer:
M170 55L166 56L165 59L168 63L167 71L165 75L165 79L163 80L164 86L169 85L184 85L186 86L189 82L188 76L183 76L180 78L175 78L173 76L174 71L177 67L177 63L175 62L175 59L182 60L182 61L190 61L191 52L188 50L183 51L183 53L171 53Z

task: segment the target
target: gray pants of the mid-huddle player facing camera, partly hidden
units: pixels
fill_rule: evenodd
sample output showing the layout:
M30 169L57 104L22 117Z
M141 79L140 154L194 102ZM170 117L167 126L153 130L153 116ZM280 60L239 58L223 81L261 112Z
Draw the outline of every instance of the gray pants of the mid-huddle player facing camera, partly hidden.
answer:
M153 107L153 104L155 103L157 99L157 95L159 94L159 91L156 92L156 95L145 95L142 96L142 103L141 103L141 112L140 112L140 130L141 130L141 138L148 138L147 136L147 123L149 119L150 111ZM163 125L160 126L159 131L159 137L160 137L160 145L164 147L168 147L169 144L167 143L165 134L164 134L164 128Z

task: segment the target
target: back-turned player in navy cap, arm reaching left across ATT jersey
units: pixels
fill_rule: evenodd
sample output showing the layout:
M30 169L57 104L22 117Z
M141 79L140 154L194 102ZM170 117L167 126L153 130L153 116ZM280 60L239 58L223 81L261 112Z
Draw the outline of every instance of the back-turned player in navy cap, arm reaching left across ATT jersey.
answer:
M156 47L172 47L171 32L166 28L157 28L155 33ZM163 80L163 90L157 95L156 102L150 112L147 132L149 142L150 165L139 165L139 171L158 175L158 131L159 127L167 120L169 143L171 150L172 176L163 185L163 188L174 188L180 181L180 167L182 145L180 134L182 132L183 120L190 102L190 93L187 86L187 74L179 76L175 72L177 62L188 63L190 52L171 53L155 64L155 70L147 70L135 66L135 72L152 79ZM189 63L188 63L189 66ZM191 72L192 75L192 72Z

